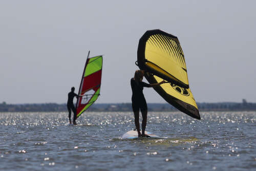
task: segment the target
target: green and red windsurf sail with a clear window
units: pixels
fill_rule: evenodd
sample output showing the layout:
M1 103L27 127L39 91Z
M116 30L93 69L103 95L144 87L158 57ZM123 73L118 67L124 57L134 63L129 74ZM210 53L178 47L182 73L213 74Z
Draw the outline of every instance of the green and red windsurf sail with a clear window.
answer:
M100 95L102 56L89 58L90 51L83 69L79 88L79 97L76 103L76 117L86 111Z

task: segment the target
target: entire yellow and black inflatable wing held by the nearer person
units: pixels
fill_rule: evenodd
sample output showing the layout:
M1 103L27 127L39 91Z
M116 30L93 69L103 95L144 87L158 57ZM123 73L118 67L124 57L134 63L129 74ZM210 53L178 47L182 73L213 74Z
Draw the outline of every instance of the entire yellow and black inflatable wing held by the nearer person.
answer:
M140 38L138 67L145 70L150 83L163 83L154 90L169 104L185 114L200 119L197 103L189 89L187 69L178 38L161 30L146 31Z

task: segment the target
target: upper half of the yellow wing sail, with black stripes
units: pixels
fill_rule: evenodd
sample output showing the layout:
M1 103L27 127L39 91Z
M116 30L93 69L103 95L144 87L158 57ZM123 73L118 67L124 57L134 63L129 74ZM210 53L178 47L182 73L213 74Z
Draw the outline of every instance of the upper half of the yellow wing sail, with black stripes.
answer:
M189 88L184 54L174 35L161 30L147 31L139 41L138 65L180 87Z

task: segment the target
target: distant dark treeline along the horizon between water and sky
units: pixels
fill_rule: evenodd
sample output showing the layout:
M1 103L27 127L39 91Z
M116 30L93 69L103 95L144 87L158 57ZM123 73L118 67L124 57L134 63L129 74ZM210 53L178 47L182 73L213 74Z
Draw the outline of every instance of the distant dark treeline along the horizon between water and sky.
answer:
M243 99L242 103L219 102L197 103L199 111L256 111L256 103ZM178 111L168 103L148 103L148 111ZM37 104L7 104L0 103L0 112L63 112L67 111L66 104L37 103ZM95 103L88 111L132 111L132 103Z

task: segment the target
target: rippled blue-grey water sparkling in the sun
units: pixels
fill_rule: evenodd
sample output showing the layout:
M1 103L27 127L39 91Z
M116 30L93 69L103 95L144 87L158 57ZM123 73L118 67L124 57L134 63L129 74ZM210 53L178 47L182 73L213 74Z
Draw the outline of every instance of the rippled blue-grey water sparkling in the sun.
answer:
M0 113L0 170L255 170L256 112L149 112L146 131L120 137L131 112Z

